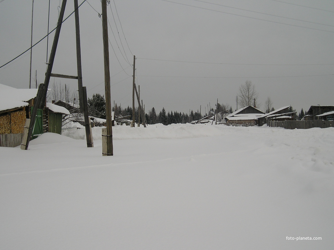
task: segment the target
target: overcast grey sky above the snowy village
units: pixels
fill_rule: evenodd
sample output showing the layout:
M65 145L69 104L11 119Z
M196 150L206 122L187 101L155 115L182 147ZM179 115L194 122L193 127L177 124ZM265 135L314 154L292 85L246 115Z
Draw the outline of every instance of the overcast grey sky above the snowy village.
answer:
M60 4L51 0L50 30ZM31 8L28 0L0 1L0 66L30 47ZM292 105L297 112L334 105L333 0L111 0L107 9L111 99L123 108L132 106L133 55L147 113L152 107L188 113L201 106L203 114L217 98L235 110L246 80L255 85L262 110L267 97L274 108ZM64 16L73 10L67 1ZM101 12L100 0L79 8L88 97L104 95ZM48 1L35 0L33 44L47 34L47 23ZM77 75L75 53L72 15L62 25L52 72ZM33 47L33 83L35 70L38 83L44 82L48 56L46 39ZM29 67L27 52L0 69L0 83L29 88ZM77 89L75 80L53 81Z

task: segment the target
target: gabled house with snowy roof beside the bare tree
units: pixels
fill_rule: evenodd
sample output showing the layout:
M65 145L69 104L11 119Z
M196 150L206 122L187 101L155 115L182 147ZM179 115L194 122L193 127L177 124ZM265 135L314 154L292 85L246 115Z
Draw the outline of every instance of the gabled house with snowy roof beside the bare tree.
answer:
M264 114L265 112L249 105L227 115L225 121L227 125L255 126L259 123L258 118Z

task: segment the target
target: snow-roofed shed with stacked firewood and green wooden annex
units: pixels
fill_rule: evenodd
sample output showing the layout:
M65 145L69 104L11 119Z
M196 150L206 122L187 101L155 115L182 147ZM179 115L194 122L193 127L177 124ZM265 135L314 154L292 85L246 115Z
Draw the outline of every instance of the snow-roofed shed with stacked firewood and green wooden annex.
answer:
M30 118L34 106L37 89L15 89L0 84L0 146L16 147L21 144L25 119ZM61 122L58 120L68 110L47 103L39 110L33 136L44 132L61 132ZM61 121L61 119L60 119Z

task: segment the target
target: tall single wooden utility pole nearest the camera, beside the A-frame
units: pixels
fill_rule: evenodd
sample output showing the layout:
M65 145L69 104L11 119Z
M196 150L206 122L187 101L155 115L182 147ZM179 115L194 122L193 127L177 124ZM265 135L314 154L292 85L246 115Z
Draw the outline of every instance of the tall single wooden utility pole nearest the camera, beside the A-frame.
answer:
M106 97L106 134L103 134L102 155L113 155L113 127L111 115L111 93L110 93L110 68L109 68L109 43L108 43L108 23L107 23L107 1L102 0L102 33L103 33L103 57L105 71L105 97ZM135 68L135 67L133 67Z

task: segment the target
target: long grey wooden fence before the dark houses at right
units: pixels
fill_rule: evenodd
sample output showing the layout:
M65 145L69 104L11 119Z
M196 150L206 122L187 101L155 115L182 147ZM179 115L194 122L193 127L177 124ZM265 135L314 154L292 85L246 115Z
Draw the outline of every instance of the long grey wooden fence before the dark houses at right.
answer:
M329 128L334 127L334 121L270 121L268 125L269 127L282 127L287 129Z

